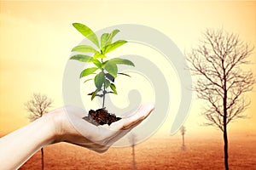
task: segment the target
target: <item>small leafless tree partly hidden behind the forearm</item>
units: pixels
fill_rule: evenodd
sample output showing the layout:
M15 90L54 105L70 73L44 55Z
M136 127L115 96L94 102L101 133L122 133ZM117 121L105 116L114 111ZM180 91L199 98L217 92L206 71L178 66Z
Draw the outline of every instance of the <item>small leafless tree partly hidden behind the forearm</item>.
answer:
M46 95L33 94L32 99L25 104L26 110L30 112L30 121L33 122L47 113L52 103L53 100L49 99ZM44 148L41 148L41 163L42 169L44 169Z

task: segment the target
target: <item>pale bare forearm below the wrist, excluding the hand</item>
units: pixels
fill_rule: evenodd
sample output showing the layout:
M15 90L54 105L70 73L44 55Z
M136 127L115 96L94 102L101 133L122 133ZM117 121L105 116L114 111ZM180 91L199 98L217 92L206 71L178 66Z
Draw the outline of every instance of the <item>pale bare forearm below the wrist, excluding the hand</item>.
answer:
M54 126L50 116L43 116L1 138L0 169L16 169L44 145L53 143Z

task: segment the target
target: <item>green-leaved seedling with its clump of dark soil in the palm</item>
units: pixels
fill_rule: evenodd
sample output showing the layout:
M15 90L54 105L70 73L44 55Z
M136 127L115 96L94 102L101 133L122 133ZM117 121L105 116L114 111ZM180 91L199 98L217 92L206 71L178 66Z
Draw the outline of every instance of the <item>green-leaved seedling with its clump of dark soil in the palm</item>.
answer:
M70 58L94 64L94 67L85 68L84 71L80 73L80 78L90 77L89 79L86 79L84 83L94 80L96 88L88 94L91 96L91 100L95 99L95 97L102 98L102 109L96 111L90 110L89 116L85 116L84 119L95 125L110 125L112 122L118 121L120 118L113 114L108 114L108 111L105 109L105 96L106 94L118 94L114 84L114 80L118 75L130 77L125 73L119 73L118 65L135 65L128 59L107 59L108 57L106 54L124 45L127 41L118 40L116 42L112 42L113 37L119 33L119 30L103 33L101 36L101 42L99 42L95 32L91 31L88 26L84 26L80 23L73 23L73 26L96 46L95 48L90 45L76 46L72 51L79 52L81 54L75 54ZM92 77L93 75L95 75L95 77Z

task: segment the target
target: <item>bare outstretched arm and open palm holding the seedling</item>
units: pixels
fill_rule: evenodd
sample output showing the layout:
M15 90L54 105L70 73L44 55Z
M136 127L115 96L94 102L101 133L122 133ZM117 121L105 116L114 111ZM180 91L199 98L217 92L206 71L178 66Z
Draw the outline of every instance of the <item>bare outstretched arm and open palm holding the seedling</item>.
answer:
M137 111L122 117L110 126L94 126L79 116L73 116L86 129L83 135L70 121L70 116L82 111L78 107L61 107L0 139L0 169L17 169L34 153L48 144L67 142L103 153L130 132L154 110L154 105L141 105Z

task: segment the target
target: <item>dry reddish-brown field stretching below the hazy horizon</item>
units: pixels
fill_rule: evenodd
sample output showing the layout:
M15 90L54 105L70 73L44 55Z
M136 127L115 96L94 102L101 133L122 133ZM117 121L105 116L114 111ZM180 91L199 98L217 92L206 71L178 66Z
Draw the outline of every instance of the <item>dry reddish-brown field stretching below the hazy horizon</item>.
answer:
M223 142L218 138L186 138L182 150L176 137L153 137L135 147L137 169L224 169ZM212 138L212 139L211 139ZM40 169L40 152L21 169ZM111 148L97 154L73 144L53 144L44 148L45 169L131 169L131 147ZM256 169L256 136L230 137L230 169Z

